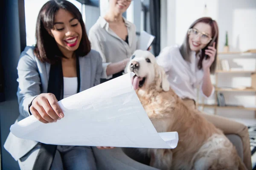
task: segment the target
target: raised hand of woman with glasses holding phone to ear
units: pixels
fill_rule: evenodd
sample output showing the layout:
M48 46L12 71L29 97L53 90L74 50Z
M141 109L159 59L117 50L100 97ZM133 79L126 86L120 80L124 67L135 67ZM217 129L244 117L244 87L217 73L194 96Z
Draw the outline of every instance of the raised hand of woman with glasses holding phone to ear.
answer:
M208 59L204 58L202 62L203 70L207 71L212 65L212 62L214 62L215 54L216 54L216 48L215 48L215 42L213 42L212 47L208 46L208 49L205 50L205 54L209 56Z

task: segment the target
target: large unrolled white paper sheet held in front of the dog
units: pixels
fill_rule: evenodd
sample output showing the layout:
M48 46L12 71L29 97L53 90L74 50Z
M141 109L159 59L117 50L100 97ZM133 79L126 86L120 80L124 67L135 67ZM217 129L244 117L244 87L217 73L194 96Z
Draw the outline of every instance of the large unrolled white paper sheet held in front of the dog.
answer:
M46 144L175 148L177 132L157 133L131 85L134 73L59 101L64 118L44 124L29 116L11 126L23 139Z

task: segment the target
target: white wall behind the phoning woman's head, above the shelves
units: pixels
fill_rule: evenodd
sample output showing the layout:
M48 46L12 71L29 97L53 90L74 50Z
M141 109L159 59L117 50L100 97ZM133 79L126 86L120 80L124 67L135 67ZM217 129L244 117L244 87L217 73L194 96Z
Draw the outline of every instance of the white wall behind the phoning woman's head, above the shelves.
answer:
M162 5L162 12L167 21L167 26L163 25L167 31L167 36L162 35L163 41L167 42L164 45L181 44L190 24L199 17L209 16L218 22L219 50L223 50L226 31L231 51L256 48L255 0L168 0L166 8Z

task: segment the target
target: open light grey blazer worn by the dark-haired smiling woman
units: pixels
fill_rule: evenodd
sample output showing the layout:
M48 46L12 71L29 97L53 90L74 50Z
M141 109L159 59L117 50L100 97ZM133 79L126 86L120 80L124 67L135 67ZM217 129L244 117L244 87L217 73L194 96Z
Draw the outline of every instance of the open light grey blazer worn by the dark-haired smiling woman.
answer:
M47 93L50 64L42 63L33 54L34 47L26 47L20 54L17 71L19 83L17 97L19 102L20 121L29 114L29 104L41 93ZM100 82L102 74L102 57L97 51L91 50L84 57L79 57L80 91L84 91ZM38 142L20 139L9 133L4 148L17 161L29 152Z

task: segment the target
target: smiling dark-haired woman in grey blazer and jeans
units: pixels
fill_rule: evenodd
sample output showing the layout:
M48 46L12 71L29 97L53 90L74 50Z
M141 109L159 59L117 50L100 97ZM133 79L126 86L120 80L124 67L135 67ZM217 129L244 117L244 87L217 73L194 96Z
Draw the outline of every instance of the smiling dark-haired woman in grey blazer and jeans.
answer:
M64 118L58 100L99 84L102 58L90 49L76 6L66 0L44 4L36 23L36 45L21 53L17 72L17 121L33 115L42 123L57 122ZM10 133L4 147L21 170L96 169L90 146L48 145Z

